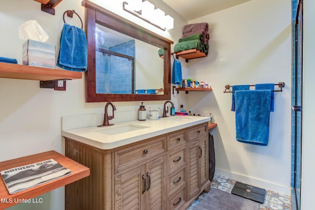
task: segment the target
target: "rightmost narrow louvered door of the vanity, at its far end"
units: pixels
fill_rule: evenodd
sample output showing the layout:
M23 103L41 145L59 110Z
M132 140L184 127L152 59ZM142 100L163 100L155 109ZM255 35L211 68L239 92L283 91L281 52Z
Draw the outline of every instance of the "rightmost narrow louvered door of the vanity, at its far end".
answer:
M199 166L200 166L200 187L209 180L209 153L207 152L208 138L204 137L199 140Z

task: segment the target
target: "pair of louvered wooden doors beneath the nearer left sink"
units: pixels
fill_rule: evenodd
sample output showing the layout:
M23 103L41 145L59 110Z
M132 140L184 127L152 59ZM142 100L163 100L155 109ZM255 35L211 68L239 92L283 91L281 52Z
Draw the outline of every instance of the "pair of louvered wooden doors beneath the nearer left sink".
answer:
M166 155L115 177L115 210L165 210Z

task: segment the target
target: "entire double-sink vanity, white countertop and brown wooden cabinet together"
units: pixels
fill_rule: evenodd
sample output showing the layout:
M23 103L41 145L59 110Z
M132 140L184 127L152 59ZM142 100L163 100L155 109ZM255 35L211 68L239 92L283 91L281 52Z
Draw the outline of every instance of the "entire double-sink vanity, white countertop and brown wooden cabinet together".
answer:
M66 210L179 210L209 191L207 117L174 116L62 131L91 175L65 186Z

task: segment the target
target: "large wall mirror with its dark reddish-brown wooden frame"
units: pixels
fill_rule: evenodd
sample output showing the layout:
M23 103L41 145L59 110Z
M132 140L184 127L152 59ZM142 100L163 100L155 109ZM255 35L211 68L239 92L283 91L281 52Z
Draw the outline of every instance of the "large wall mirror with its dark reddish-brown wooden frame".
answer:
M89 0L82 5L89 55L86 102L170 100L173 41ZM163 59L159 49L164 49Z

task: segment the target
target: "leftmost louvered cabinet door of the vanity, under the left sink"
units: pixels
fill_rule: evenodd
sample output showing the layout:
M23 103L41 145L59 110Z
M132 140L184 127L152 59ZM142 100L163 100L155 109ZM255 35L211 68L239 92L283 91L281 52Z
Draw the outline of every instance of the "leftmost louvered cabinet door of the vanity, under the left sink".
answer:
M144 165L115 178L115 210L145 210Z

